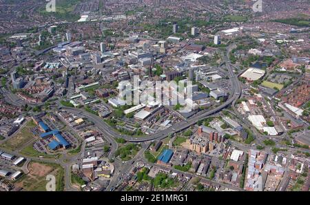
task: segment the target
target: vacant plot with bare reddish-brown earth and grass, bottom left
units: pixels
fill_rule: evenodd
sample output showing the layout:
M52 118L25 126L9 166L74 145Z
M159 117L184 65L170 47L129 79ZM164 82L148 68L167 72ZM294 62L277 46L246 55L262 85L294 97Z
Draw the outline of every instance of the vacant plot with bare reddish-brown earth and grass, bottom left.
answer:
M54 175L56 178L56 191L63 191L64 170L57 164L30 162L29 173L23 175L16 182L24 191L46 191L47 175Z

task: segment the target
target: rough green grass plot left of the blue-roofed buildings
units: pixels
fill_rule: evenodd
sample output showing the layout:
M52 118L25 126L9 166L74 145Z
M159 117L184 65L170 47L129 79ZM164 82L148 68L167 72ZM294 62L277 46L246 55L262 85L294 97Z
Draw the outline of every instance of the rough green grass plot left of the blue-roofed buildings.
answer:
M2 145L2 147L8 150L17 150L35 137L31 132L32 128L34 128L35 126L36 124L34 124L34 121L28 121L27 124L23 128L21 128L19 133L17 133L17 135L15 135L14 137L8 139L8 141L6 141Z

